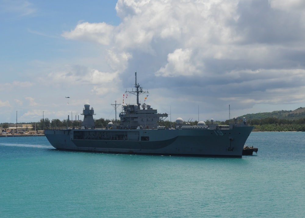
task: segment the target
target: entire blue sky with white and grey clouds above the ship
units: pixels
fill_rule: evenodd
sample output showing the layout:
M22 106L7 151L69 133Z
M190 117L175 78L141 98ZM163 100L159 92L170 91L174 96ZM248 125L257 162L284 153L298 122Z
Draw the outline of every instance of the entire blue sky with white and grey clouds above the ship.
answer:
M135 71L172 121L305 106L302 0L0 0L0 22L0 123L112 119Z

